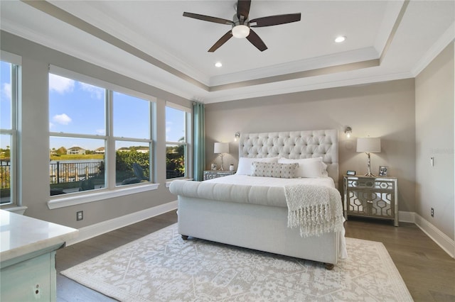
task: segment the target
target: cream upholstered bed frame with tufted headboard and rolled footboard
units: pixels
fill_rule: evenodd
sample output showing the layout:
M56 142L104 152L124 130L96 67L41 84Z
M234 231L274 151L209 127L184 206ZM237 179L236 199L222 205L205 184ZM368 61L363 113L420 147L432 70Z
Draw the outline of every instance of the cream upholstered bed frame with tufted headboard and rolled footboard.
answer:
M239 155L291 159L323 157L328 175L338 184L336 130L246 133L240 136ZM205 181L171 183L171 192L178 194L178 232L182 237L198 237L324 262L328 268L337 263L341 232L302 238L298 228L287 228L286 207L222 200L214 197L217 192L210 198L200 197L199 192L209 185ZM232 188L228 190L232 191Z

